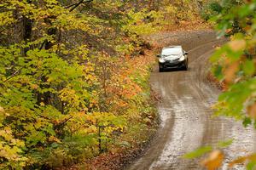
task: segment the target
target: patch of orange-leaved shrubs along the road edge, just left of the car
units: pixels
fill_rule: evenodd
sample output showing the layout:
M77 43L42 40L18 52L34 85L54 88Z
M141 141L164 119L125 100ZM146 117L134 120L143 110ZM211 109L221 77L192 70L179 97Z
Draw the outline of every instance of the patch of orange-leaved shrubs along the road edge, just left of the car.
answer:
M143 92L143 87L136 80L137 74L140 77L146 77L148 65L152 65L154 60L154 54L148 50L145 55L125 56L108 65L108 72L110 72L108 74L111 75L107 76L108 80L102 80L102 83L105 82L102 86L105 88L107 104L111 105L113 111L125 109L134 96Z

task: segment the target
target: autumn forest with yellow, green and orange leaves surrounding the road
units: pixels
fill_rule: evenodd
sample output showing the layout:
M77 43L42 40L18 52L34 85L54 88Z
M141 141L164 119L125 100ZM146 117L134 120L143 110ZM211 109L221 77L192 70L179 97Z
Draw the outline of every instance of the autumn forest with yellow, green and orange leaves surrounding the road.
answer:
M210 59L223 92L212 110L256 127L255 8L246 0L1 0L0 169L122 169L134 160L161 121L149 78L162 47L148 41L160 32L226 38ZM255 155L232 163L245 161L256 167Z

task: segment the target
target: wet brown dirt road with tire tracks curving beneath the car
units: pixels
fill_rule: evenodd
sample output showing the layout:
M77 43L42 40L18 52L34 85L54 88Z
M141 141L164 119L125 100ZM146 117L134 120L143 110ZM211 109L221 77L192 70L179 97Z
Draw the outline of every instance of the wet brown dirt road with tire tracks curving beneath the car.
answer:
M255 151L256 134L252 127L244 128L241 122L224 117L212 118L210 108L220 92L206 80L207 59L224 41L212 31L166 32L150 39L162 47L183 45L189 52L189 71L158 72L155 68L151 84L162 96L158 105L160 129L148 150L127 169L202 169L198 160L184 160L183 154L226 139L234 139L224 150L226 162ZM227 169L227 163L222 169Z

